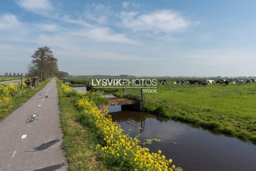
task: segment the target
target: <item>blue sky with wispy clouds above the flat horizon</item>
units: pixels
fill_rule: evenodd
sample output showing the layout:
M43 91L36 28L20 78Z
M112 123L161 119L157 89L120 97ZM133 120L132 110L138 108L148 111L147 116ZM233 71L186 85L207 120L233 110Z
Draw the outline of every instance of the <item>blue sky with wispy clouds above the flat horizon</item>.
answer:
M255 1L1 1L0 74L47 45L71 75L256 75L255 18Z

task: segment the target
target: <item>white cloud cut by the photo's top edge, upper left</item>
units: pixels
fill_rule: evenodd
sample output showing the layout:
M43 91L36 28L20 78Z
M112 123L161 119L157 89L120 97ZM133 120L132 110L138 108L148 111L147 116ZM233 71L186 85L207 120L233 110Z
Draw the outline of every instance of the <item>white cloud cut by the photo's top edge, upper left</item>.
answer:
M17 4L31 12L49 11L52 6L48 0L17 0Z

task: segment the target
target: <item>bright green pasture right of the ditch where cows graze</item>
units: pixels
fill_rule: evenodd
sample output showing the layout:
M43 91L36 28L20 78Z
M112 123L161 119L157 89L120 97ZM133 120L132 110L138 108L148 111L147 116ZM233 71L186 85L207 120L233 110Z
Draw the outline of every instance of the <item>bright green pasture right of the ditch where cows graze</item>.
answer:
M157 93L146 93L145 111L256 143L256 83L228 86L213 84L203 87L175 85L173 82L177 78L166 80L169 84L158 83ZM116 91L115 95L122 96L122 89L113 90Z

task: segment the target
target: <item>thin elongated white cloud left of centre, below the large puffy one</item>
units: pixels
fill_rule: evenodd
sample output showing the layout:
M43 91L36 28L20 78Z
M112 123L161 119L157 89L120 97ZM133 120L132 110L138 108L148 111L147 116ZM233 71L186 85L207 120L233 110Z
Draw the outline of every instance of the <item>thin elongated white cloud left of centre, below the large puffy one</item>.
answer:
M72 33L74 36L83 36L90 39L99 41L99 42L120 42L120 43L129 43L136 44L132 40L125 37L124 34L114 34L107 27L98 27L91 29L89 31L81 30L78 32Z

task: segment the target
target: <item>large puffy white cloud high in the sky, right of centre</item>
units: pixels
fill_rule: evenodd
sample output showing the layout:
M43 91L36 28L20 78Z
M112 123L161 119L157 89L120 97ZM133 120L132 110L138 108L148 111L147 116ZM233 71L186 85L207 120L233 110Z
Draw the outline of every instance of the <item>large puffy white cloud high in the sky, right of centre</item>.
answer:
M171 10L155 11L151 14L138 15L136 12L121 12L120 26L133 31L152 31L155 33L179 32L188 27L190 21L183 18L180 13Z

